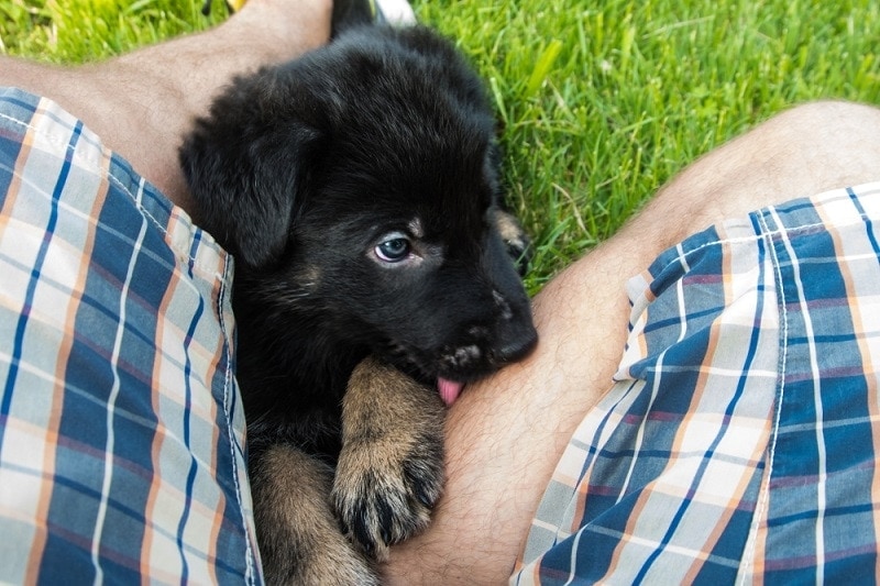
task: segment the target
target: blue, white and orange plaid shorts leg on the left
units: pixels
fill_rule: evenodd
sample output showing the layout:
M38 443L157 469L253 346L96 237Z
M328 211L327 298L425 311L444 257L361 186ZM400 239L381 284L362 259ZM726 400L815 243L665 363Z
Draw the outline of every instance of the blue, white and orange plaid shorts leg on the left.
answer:
M0 88L0 583L260 582L231 259Z

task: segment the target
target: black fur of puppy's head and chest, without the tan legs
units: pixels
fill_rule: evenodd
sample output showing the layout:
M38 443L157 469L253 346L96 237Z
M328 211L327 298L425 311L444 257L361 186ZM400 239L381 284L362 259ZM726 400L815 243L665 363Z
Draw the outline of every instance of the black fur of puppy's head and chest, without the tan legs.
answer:
M479 78L424 27L346 30L237 79L197 122L180 159L235 257L252 461L285 443L333 464L367 356L433 387L534 347L494 132Z

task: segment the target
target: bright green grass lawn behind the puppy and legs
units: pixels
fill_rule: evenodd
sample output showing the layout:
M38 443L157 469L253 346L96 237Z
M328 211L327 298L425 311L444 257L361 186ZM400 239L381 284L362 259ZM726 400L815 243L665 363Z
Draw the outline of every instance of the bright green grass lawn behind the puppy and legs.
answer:
M880 102L873 0L417 0L487 81L531 292L689 162L793 103ZM0 52L118 54L212 20L199 0L0 0ZM674 219L669 219L674 221Z

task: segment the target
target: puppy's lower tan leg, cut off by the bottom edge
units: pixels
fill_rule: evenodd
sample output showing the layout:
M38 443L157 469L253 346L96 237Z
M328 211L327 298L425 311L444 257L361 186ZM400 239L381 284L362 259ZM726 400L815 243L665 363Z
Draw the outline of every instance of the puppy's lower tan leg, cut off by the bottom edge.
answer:
M378 584L333 516L330 466L285 444L268 447L254 464L256 539L267 584Z

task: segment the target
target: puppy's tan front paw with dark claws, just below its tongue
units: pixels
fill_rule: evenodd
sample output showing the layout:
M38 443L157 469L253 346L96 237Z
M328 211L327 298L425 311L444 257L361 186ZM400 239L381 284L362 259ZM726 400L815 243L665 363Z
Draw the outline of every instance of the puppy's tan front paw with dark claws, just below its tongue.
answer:
M377 560L428 524L443 484L443 420L437 391L366 358L342 403L337 512Z

